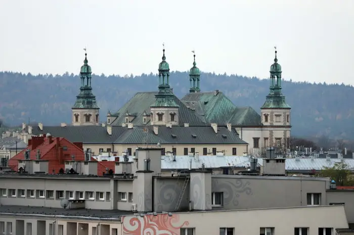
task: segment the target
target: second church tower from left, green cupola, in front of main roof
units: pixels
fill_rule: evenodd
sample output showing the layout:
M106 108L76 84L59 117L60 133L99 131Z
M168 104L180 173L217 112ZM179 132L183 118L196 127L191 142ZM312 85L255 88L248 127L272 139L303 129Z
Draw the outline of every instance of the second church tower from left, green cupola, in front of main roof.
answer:
M159 85L158 93L155 95L155 102L150 106L151 125L178 125L179 105L169 85L169 65L166 62L165 48L163 48L162 62L159 64Z

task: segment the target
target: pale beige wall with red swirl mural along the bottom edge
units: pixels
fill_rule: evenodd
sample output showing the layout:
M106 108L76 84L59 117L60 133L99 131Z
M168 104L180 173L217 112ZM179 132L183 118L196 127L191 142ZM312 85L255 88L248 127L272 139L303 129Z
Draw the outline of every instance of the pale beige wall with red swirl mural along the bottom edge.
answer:
M127 216L123 218L122 234L145 234L152 228L152 223L154 234L160 234L162 230L168 234L180 234L181 228L194 228L194 234L220 234L219 229L223 227L234 228L234 234L259 234L260 228L264 227L274 228L273 234L294 234L295 227L307 227L309 235L317 235L319 227L330 227L333 231L348 228L343 206L317 206L188 212L176 213L172 217L167 214L146 215L145 218Z

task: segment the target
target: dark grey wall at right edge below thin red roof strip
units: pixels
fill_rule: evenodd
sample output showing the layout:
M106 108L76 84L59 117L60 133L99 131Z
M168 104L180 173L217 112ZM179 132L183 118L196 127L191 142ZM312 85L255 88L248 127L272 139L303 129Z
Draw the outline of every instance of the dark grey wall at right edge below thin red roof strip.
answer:
M354 190L327 190L327 205L344 203L348 223L354 223Z

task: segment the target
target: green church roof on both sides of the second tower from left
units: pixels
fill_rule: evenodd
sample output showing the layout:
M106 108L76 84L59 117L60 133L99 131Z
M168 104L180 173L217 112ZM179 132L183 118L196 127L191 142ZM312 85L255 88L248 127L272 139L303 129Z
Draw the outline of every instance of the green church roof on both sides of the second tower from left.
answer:
M143 124L144 111L150 113L150 106L155 102L155 95L158 92L138 92L117 112L111 113L111 125L121 126L125 123L125 114L128 112L134 119L131 123L134 126L145 126ZM205 119L189 109L178 97L173 95L174 101L179 107L179 124L189 123L191 126L205 126ZM150 125L150 124L148 124Z

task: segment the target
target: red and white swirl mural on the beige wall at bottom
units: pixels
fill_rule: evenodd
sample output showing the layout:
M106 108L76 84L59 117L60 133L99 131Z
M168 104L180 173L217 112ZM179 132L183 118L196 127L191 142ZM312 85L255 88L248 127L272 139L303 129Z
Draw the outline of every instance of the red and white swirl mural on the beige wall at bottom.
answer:
M180 228L189 225L188 221L181 221L180 215L158 214L144 217L122 217L124 235L180 235Z

